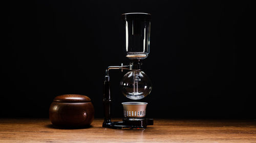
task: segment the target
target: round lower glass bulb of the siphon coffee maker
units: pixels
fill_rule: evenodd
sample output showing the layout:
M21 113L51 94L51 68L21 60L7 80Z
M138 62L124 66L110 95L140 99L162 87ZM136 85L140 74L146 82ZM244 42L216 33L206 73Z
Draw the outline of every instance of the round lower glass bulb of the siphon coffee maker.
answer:
M125 97L138 100L150 94L152 82L143 71L130 71L123 76L120 88Z

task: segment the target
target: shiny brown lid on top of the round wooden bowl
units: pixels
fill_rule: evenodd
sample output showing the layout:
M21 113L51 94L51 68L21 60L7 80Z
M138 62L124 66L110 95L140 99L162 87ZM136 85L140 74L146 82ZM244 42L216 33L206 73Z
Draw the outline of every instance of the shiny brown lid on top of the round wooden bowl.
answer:
M85 95L65 94L65 95L59 95L55 97L53 101L66 102L66 103L80 103L80 102L90 102L91 99Z

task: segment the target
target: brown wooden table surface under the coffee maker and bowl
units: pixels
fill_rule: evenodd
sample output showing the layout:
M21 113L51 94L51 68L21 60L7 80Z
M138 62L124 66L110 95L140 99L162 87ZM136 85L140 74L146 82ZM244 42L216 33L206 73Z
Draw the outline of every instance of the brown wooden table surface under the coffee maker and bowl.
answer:
M0 119L0 142L256 142L255 120L155 119L146 130L57 129L49 119Z

